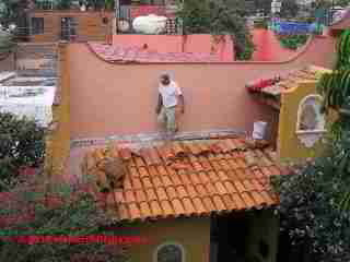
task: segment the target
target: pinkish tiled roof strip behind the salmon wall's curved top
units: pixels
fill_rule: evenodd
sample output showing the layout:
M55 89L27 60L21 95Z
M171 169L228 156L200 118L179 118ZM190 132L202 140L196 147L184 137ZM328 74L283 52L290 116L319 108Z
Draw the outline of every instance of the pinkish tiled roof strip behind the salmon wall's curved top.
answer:
M195 52L156 52L137 46L121 47L88 43L98 58L112 63L196 63L220 62L219 55Z

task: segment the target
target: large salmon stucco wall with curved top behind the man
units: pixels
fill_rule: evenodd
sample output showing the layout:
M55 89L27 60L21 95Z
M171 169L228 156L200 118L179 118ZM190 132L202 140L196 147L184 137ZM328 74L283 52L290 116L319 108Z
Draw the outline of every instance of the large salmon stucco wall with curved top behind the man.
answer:
M330 68L334 44L332 38L315 38L288 62L144 64L112 64L86 45L70 44L71 139L158 132L158 79L164 70L174 74L185 95L180 131L234 128L250 132L254 121L271 123L272 114L257 104L245 84L305 64Z

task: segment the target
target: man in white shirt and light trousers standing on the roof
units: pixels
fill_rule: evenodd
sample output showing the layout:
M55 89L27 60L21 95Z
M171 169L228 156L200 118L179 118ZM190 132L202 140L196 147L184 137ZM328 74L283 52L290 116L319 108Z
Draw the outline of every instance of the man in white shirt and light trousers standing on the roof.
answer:
M185 100L180 87L168 73L161 74L155 112L158 121L166 127L167 133L174 134L178 131L177 118L185 112Z

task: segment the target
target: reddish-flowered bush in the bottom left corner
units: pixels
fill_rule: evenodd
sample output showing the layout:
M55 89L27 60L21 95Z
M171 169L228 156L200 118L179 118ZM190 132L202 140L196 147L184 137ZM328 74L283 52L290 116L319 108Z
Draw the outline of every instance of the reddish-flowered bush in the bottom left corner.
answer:
M45 176L40 174L38 178L43 177ZM0 202L0 222L3 217L20 217L20 219L2 224L1 237L113 235L106 227L112 221L88 193L86 184L73 187L56 182L51 189L46 187L43 190L43 187L39 187L43 181L35 178L15 184L15 188L9 187L8 200ZM126 260L125 247L97 241L28 245L8 239L0 242L0 261L120 262Z

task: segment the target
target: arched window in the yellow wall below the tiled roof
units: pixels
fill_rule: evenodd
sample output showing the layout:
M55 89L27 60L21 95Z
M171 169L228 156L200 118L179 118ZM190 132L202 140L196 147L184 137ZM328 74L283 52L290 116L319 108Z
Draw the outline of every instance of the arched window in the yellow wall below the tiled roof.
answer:
M184 247L178 243L164 243L158 247L154 262L185 262Z

